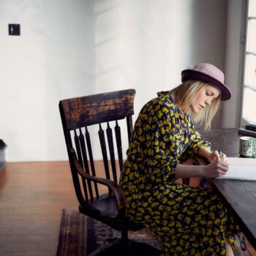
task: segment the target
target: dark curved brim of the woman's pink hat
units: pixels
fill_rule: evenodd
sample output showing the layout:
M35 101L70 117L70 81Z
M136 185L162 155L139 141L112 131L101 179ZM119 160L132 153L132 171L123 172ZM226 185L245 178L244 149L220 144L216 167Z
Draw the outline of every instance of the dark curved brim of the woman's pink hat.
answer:
M181 72L181 81L184 83L187 80L200 80L206 83L211 83L213 86L217 86L222 91L222 96L220 98L221 100L230 99L232 96L230 89L228 89L224 83L215 78L212 78L206 73L194 69L185 69Z

